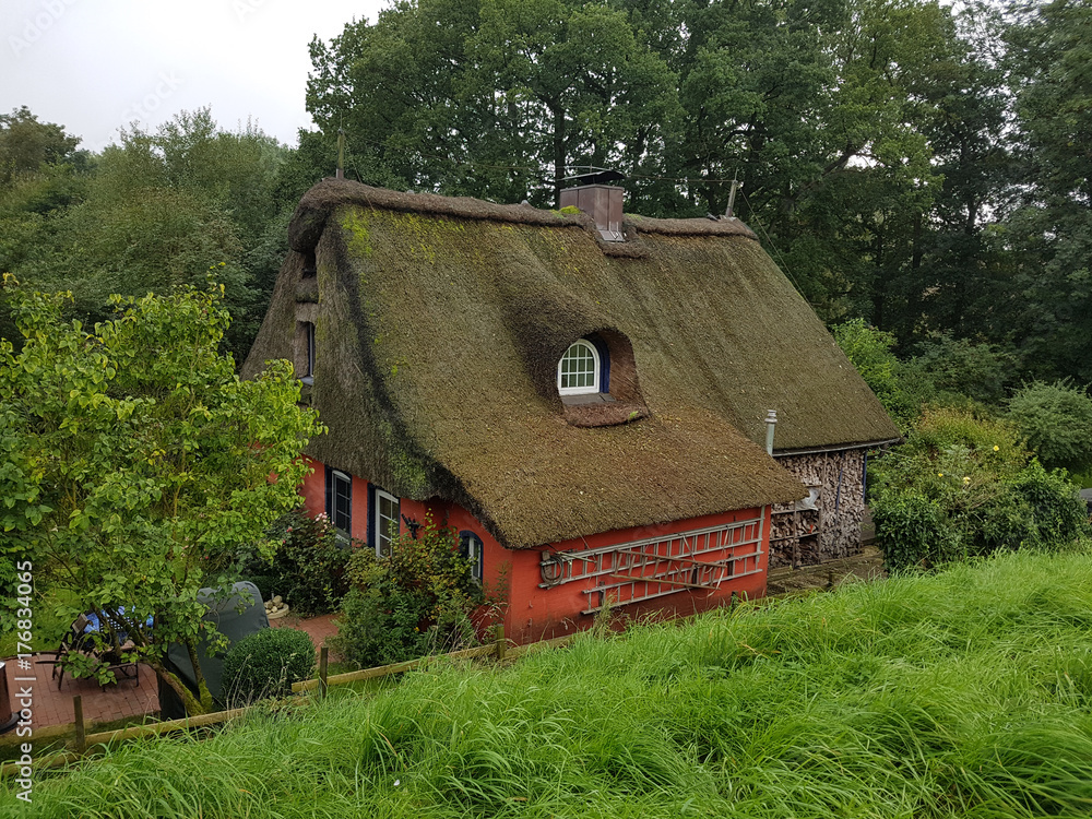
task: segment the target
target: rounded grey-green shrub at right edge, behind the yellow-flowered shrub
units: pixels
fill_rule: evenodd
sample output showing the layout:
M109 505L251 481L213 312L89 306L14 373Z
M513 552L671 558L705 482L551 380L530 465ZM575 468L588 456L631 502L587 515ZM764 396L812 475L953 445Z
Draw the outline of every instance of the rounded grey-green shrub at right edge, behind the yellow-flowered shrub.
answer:
M1024 384L1010 399L1008 417L1047 468L1092 467L1092 399L1068 379Z

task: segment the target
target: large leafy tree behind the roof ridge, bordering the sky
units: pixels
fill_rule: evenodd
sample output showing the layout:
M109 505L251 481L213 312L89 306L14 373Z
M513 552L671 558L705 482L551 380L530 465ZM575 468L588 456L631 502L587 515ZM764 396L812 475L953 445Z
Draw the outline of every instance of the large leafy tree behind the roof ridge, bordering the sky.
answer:
M365 181L536 204L573 166L662 167L676 79L624 11L417 0L311 44L307 107Z

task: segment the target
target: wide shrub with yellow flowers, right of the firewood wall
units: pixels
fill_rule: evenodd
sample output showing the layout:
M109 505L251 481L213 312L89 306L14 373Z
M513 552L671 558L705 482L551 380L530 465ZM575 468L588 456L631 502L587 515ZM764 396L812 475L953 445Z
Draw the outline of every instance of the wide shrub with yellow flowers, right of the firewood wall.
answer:
M1045 470L1014 425L973 410L925 410L906 443L877 462L870 477L888 569L1089 534L1088 511L1067 473Z

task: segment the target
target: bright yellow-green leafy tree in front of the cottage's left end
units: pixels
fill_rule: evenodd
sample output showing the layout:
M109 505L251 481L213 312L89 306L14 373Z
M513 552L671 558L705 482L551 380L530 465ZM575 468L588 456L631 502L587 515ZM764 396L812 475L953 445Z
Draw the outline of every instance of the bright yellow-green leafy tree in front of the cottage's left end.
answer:
M218 286L115 297L116 317L87 332L61 319L66 294L7 282L23 336L17 354L0 342L7 548L34 561L36 582L64 590L59 616L119 624L104 639L117 650L126 632L128 656L205 712L197 645L217 634L198 590L226 590L241 546L272 553L264 533L298 503L317 416L297 405L287 361L239 381L217 352L228 323ZM171 643L189 652L195 696L164 663Z

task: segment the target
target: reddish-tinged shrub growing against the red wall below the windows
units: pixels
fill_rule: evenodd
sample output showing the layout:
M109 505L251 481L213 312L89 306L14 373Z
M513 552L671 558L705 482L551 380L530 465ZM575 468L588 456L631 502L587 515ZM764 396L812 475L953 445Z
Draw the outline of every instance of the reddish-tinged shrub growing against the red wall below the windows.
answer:
M331 641L345 662L367 668L475 642L470 616L484 594L454 530L427 519L416 538L403 533L391 542L390 557L356 548L349 578Z

